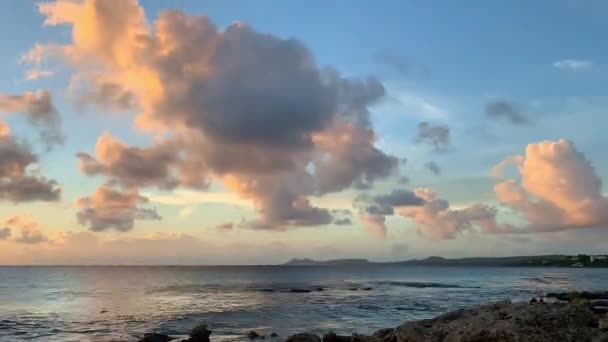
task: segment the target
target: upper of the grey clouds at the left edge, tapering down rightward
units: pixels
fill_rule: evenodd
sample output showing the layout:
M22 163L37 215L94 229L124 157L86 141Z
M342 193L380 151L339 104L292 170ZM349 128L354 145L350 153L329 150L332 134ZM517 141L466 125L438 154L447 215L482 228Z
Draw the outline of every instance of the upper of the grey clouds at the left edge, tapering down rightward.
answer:
M40 129L40 139L49 147L63 143L61 118L51 93L47 90L25 92L23 95L0 94L0 113L21 113Z

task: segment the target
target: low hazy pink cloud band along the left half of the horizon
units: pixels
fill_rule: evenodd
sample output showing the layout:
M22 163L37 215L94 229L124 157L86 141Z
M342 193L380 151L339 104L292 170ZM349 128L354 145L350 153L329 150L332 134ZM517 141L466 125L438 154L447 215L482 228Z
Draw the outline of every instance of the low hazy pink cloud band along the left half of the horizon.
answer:
M2 243L0 263L26 265L221 265L268 264L310 251L310 245L285 248L277 242L208 242L184 233L141 237L99 235L89 231L53 234L47 243L20 248ZM269 257L270 255L270 257Z

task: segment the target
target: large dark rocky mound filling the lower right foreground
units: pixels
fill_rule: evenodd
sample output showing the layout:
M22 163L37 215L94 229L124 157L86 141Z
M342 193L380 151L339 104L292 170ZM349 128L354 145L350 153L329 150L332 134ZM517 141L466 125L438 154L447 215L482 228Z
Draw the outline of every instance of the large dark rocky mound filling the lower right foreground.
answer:
M589 305L501 302L353 336L353 342L608 341L604 324Z

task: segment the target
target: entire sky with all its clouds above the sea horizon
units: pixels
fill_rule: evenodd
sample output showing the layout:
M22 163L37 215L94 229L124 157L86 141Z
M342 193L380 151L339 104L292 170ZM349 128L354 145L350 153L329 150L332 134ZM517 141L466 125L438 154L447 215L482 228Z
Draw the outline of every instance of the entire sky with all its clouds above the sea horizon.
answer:
M0 264L608 252L603 1L0 2Z

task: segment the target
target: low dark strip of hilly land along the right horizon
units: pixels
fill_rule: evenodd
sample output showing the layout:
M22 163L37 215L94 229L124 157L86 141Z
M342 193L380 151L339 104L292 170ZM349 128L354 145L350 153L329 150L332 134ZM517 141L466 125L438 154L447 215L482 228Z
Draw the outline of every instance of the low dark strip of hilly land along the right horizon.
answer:
M608 255L532 255L511 257L475 257L449 259L431 256L426 259L373 262L366 259L317 261L291 259L285 266L497 266L497 267L608 267Z

